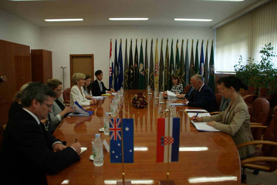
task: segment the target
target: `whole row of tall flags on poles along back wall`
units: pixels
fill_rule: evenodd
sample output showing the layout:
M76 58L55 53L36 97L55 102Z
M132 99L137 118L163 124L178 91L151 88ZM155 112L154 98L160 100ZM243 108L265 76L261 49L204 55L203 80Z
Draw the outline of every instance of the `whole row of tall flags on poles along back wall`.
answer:
M171 52L169 56L168 39L166 40L165 58L163 56L163 39L161 39L160 61L158 60L158 38L156 40L155 58L153 57L153 38L151 40L150 49L150 63L148 67L147 54L147 38L145 43L145 55L143 57L141 39L140 42L140 56L138 56L137 39L135 46L135 55L133 58L132 52L132 38L130 42L129 62L127 56L127 38L125 41L125 59L123 70L122 59L122 39L120 39L119 53L117 57L117 40L115 43L115 57L112 57L112 41L110 42L110 61L109 61L109 88L114 88L115 91L121 87L127 89L147 89L148 86L152 90L156 88L159 91L170 90L173 86L171 76L176 74L181 79L183 88L190 84L190 78L194 74L201 74L204 78L204 83L215 91L215 74L214 74L214 50L213 40L211 46L210 60L208 59L208 43L206 46L206 54L204 59L203 42L201 43L200 60L198 54L198 42L196 43L195 59L193 51L193 39L191 43L191 58L189 60L188 42L186 41L186 51L184 55L184 39L182 39L181 56L179 55L179 48L177 39L175 57L173 53L173 39L171 41ZM174 62L175 58L175 62Z

